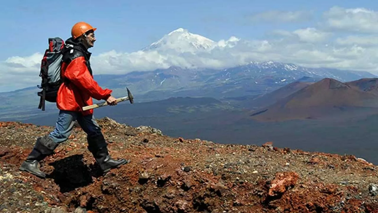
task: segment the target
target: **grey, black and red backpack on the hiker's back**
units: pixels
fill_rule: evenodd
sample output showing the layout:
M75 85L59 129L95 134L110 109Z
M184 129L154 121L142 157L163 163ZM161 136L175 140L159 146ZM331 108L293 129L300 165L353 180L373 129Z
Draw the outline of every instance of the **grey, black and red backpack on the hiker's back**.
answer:
M37 85L42 91L38 109L45 111L45 101L56 103L57 93L62 80L60 78L60 66L62 64L64 40L55 37L49 38L49 48L45 50L40 67L39 77L42 78L41 85Z

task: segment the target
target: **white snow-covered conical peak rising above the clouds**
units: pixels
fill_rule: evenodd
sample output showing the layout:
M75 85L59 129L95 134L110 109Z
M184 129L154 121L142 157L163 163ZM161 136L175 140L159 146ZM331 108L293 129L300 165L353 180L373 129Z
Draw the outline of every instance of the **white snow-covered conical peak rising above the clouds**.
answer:
M190 33L184 28L178 28L144 48L143 51L157 50L159 52L195 53L211 50L216 44L217 42L204 36Z

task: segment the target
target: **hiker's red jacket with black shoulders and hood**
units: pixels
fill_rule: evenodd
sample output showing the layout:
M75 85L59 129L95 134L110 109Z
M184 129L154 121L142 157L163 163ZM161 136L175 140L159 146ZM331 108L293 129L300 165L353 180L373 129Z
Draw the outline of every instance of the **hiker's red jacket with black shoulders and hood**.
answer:
M71 38L66 44L79 45ZM82 107L93 104L92 98L106 100L112 90L102 89L93 79L89 63L91 53L79 50L68 50L63 56L61 77L64 81L59 88L56 105L60 110L80 111L88 115L93 114L93 110L83 111Z

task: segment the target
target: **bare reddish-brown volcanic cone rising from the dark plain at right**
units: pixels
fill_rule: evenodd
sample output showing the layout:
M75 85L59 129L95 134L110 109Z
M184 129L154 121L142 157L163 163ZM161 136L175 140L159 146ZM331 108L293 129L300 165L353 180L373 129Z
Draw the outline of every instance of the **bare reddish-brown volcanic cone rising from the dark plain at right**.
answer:
M356 84L355 84L356 85ZM378 107L378 96L353 84L324 78L290 96L252 113L262 121L334 116L340 111Z

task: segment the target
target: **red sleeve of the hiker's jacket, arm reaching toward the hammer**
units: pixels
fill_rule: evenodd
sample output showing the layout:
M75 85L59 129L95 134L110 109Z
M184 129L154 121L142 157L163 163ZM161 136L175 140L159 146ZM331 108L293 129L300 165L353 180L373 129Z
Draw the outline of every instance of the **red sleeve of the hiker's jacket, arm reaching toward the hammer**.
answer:
M68 64L64 76L79 89L87 92L91 97L97 100L106 100L113 92L110 89L102 89L98 85L90 75L83 56L75 58Z

